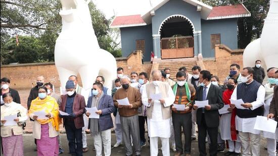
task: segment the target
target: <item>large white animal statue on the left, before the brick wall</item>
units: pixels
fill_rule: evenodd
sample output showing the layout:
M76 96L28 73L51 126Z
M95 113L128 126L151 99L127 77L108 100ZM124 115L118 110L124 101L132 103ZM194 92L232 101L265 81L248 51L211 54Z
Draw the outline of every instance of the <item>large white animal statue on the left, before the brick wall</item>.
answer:
M88 1L60 0L62 31L56 40L55 65L61 87L65 88L70 75L80 74L85 97L98 75L105 77L105 86L111 89L117 76L115 58L100 48L92 28Z

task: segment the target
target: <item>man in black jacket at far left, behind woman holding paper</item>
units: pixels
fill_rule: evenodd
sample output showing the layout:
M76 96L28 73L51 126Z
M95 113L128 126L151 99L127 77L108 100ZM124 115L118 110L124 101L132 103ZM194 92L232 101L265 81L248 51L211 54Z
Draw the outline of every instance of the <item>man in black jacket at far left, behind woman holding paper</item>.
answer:
M18 91L10 88L11 80L7 77L1 79L1 106L4 105L4 101L2 99L2 95L4 93L10 92L13 95L13 101L16 103L20 103L20 97Z

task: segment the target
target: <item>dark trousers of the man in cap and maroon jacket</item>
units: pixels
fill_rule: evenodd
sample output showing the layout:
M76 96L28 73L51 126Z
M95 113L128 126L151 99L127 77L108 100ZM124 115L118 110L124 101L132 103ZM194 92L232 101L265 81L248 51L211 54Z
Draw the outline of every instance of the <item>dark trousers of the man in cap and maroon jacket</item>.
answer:
M82 128L76 129L74 121L65 121L65 129L69 141L69 151L72 155L82 156ZM75 142L76 141L76 142Z

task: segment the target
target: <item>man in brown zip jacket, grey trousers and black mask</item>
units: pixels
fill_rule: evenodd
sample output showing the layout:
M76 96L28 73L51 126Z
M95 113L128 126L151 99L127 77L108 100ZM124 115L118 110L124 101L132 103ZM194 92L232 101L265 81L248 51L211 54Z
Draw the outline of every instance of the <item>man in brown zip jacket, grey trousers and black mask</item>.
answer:
M122 126L125 154L132 155L130 134L132 137L135 155L141 155L140 133L138 123L138 108L142 106L140 91L130 86L130 78L127 75L121 77L122 88L114 94L113 100L116 108L119 108L120 121ZM129 105L123 106L117 99L128 98Z

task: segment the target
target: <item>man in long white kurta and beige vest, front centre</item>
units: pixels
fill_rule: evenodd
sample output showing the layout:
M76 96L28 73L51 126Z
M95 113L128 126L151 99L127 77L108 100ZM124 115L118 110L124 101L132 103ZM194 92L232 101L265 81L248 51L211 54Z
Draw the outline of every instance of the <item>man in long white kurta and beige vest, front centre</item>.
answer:
M161 72L152 72L153 82L146 84L143 90L142 102L147 107L148 133L150 137L151 155L158 154L158 137L162 143L162 154L170 155L170 106L174 102L174 93L169 84L161 82ZM152 94L161 94L161 99L153 100Z

